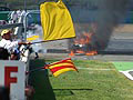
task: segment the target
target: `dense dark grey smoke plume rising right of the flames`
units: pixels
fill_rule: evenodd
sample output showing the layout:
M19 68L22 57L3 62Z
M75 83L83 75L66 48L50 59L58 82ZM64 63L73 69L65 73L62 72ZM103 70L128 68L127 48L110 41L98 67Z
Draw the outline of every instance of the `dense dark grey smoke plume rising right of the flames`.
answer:
M96 30L91 44L96 49L105 49L113 29L125 17L129 0L95 0L98 3Z

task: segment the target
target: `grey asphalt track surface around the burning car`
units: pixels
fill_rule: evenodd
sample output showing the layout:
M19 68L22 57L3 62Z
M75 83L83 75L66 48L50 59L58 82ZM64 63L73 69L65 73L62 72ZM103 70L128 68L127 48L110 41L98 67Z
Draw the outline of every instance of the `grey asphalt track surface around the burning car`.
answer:
M43 46L43 49L45 49L45 51L51 51L51 52L42 53L41 57L45 57L45 58L69 57L68 53L63 52L63 50L68 49L66 40L51 41L51 42L43 43L42 46ZM113 33L110 39L109 46L104 51L113 51L117 53L110 54L106 52L105 54L101 53L98 56L76 54L72 58L83 59L83 60L131 61L132 62L133 61L133 33L131 32ZM124 54L122 52L124 52Z

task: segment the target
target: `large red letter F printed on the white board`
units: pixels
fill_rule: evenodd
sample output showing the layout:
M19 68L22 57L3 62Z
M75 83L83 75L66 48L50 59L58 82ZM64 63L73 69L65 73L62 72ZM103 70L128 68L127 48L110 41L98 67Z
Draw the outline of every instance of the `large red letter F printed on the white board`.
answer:
M10 88L11 83L17 83L17 78L11 78L11 72L18 72L18 67L6 67L4 68L4 86Z

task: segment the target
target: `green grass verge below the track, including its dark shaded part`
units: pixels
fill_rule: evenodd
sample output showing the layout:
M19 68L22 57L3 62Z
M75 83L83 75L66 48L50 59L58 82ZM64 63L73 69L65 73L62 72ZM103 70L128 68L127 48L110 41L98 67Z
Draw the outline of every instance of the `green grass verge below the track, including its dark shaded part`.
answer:
M35 89L32 100L133 100L133 81L116 71L112 63L90 60L73 62L76 68L91 70L69 71L58 78L49 71L31 73L30 83ZM31 69L43 64L44 60L32 60Z

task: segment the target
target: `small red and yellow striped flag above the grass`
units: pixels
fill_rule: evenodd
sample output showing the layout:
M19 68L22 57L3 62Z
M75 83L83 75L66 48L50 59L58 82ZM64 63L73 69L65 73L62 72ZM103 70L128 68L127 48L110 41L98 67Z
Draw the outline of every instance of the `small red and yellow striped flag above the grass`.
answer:
M78 71L71 58L48 64L47 68L50 69L54 77L66 71Z

